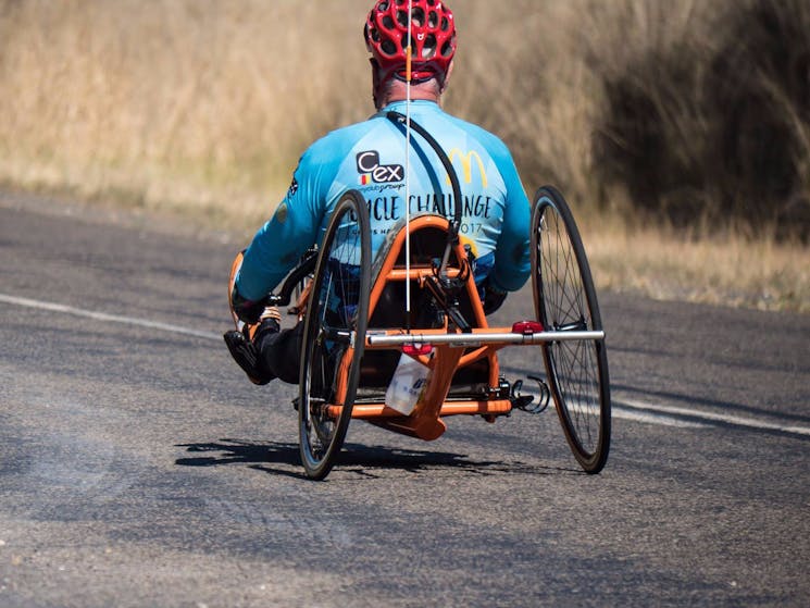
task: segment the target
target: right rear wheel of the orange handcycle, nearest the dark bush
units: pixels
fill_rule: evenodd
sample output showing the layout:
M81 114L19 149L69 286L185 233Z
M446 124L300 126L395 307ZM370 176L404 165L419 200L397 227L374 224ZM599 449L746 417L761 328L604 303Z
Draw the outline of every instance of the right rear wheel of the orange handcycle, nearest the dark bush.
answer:
M547 331L601 331L590 268L574 216L562 195L540 188L532 213L532 285L537 319ZM588 473L610 449L610 387L605 340L543 347L546 373L565 439Z

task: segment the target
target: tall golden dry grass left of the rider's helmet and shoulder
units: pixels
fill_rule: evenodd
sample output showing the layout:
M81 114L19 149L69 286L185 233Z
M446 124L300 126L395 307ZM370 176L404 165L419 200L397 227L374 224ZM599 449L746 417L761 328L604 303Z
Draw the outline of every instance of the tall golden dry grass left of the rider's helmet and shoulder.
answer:
M365 2L353 4L325 38L359 38ZM294 0L0 0L0 178L257 221L306 142L367 113L364 50L342 45L357 71L341 74L300 36L316 13Z

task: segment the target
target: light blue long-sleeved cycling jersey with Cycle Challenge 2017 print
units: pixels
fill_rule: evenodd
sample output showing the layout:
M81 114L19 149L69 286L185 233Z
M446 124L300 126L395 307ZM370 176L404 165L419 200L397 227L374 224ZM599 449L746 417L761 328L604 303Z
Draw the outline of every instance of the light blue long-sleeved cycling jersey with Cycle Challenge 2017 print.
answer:
M274 289L304 251L320 243L332 209L348 189L369 204L372 255L391 227L411 214L454 209L450 179L436 152L411 135L410 200L406 201L406 137L386 112L332 132L301 157L275 215L253 237L237 276L239 293L259 300ZM529 204L506 145L483 128L451 116L433 101L412 101L411 119L441 146L459 177L463 201L460 236L476 257L475 278L502 290L519 289L529 274Z

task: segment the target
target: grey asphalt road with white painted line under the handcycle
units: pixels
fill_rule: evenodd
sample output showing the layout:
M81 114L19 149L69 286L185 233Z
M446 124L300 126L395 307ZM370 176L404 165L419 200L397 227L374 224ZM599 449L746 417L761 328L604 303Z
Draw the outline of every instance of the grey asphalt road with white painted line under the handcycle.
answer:
M315 483L220 338L241 245L0 195L0 606L810 605L810 317L602 294L602 474L549 411Z

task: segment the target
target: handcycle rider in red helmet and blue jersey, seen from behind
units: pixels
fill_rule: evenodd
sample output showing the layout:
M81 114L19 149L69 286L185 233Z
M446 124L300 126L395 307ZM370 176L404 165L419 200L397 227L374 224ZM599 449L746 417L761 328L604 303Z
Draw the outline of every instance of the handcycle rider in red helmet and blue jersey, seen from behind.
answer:
M410 115L461 170L460 233L475 256L475 281L490 313L528 277L528 199L506 145L440 108L457 47L452 12L439 0L411 1ZM230 305L247 325L224 337L254 384L274 377L298 382L302 324L279 331L278 310L265 307L265 297L323 236L340 195L349 188L364 195L372 255L406 214L406 137L386 113L407 111L408 5L408 0L377 0L365 23L377 113L329 133L303 153L287 195L245 251ZM409 164L410 213L437 212L451 200L438 157L429 146L414 142Z

